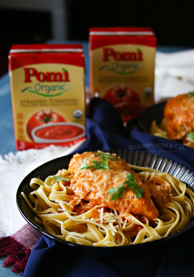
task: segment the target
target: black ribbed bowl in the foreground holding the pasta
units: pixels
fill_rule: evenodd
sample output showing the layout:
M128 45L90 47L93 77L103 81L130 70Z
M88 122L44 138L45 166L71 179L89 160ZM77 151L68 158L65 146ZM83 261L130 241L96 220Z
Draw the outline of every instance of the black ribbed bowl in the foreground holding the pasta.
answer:
M172 160L169 160L167 158L164 158L158 155L152 155L152 154L143 153L143 152L141 153L141 152L127 151L127 150L112 150L109 152L117 154L122 159L124 159L127 163L137 165L137 166L142 166L142 167L151 167L159 171L167 172L172 176L178 177L182 182L186 183L186 185L194 191L194 172L182 166L179 163L176 163ZM29 185L30 180L32 178L40 178L42 180L45 180L48 175L56 174L59 169L68 168L69 161L72 158L72 156L73 155L68 155L61 158L57 158L47 163L44 163L40 167L37 167L23 179L22 183L18 187L16 201L17 201L17 205L20 213L22 214L24 219L26 219L26 221L30 223L31 226L33 226L35 229L40 231L49 239L53 239L56 242L63 243L64 245L71 247L71 249L73 249L74 247L75 251L81 251L83 253L87 253L88 255L92 254L92 255L104 256L104 255L117 254L118 250L121 250L121 252L129 251L129 250L134 251L142 247L148 247L149 249L151 249L152 247L153 248L156 247L156 244L160 244L160 247L163 247L164 243L169 242L169 239L175 238L177 235L184 233L186 230L194 226L194 218L193 218L191 222L188 224L188 226L185 227L183 230L173 235L170 235L166 238L154 240L152 242L147 242L147 243L134 244L130 246L119 246L119 247L85 246L85 245L70 243L62 239L55 238L53 235L49 234L41 225L38 225L38 223L35 222L34 217L36 216L36 214L34 211L30 209L30 207L24 200L23 196L21 195L21 192L23 191L26 194L26 196L28 196L29 193L33 191Z

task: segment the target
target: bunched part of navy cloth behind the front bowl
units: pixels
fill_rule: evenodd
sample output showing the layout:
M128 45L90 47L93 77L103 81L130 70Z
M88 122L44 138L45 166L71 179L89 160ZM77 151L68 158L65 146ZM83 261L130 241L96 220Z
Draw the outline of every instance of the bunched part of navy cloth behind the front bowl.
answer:
M194 151L168 139L146 134L140 130L137 118L124 128L117 110L105 99L94 98L86 119L87 141L77 152L126 149L164 156L194 171Z

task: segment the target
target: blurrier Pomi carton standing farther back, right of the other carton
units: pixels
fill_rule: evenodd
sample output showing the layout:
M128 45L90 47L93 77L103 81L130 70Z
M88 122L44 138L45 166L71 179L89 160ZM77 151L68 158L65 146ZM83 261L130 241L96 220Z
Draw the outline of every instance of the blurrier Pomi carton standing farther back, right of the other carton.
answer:
M124 122L154 103L156 37L150 28L90 28L90 90Z

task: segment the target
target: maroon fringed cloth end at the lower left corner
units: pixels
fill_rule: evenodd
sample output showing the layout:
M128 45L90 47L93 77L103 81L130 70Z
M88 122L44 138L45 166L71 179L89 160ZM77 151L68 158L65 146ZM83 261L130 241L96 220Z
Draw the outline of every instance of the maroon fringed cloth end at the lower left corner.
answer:
M26 224L14 235L0 238L0 257L8 256L2 266L7 267L13 264L12 272L16 274L23 272L30 252L38 243L41 235L30 224Z

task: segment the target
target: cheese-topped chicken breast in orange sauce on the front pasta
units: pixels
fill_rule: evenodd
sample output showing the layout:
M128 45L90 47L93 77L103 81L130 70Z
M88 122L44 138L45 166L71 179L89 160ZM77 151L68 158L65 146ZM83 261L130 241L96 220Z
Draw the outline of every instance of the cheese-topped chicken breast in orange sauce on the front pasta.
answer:
M146 184L141 183L138 175L129 167L129 165L116 155L111 155L116 161L108 159L110 169L98 169L93 167L92 161L102 162L98 152L85 152L76 154L69 163L68 171L73 175L71 179L71 189L74 194L79 195L82 199L89 201L90 207L96 205L116 209L116 211L124 216L141 215L148 219L155 219L159 216ZM87 158L87 165L92 166L89 169L80 170L82 163ZM142 187L144 196L138 199L133 190L127 190L114 201L108 190L113 187L119 187L127 180L127 174L131 173L136 180L138 186Z

